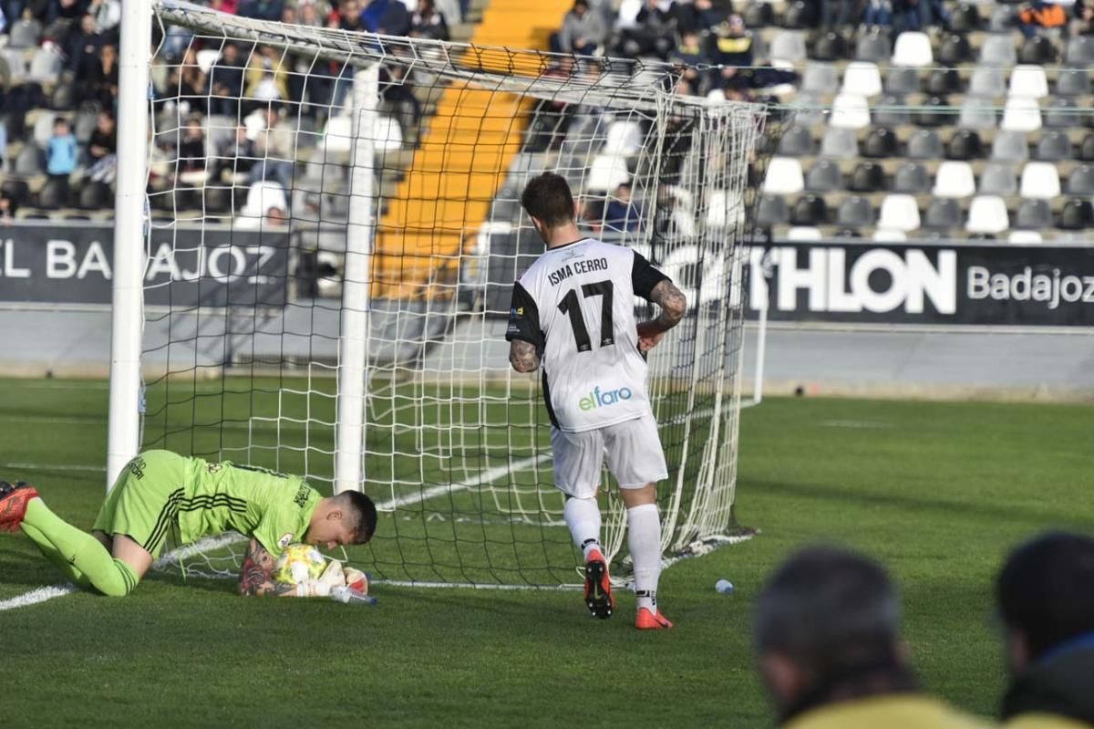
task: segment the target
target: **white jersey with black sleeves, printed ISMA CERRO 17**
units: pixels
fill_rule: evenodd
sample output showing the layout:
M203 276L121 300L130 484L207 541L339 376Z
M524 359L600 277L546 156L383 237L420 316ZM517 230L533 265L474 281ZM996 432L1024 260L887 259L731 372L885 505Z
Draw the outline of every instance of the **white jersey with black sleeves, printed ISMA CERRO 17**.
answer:
M635 297L667 277L632 250L582 239L548 248L513 285L505 338L536 347L551 423L580 432L650 413Z

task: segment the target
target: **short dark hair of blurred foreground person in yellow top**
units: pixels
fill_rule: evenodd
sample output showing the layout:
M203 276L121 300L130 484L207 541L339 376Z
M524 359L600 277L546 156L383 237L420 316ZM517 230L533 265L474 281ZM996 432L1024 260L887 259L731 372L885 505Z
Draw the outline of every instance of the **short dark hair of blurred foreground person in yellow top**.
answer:
M768 582L753 630L759 653L781 653L819 684L898 662L899 623L899 598L878 564L810 547Z

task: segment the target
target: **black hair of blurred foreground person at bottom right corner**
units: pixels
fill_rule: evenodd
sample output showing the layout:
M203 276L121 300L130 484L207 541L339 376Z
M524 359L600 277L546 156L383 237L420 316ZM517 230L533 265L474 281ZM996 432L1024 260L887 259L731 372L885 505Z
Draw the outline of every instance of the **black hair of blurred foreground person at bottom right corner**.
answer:
M1031 660L1094 632L1094 537L1047 532L1020 545L999 572L996 600Z

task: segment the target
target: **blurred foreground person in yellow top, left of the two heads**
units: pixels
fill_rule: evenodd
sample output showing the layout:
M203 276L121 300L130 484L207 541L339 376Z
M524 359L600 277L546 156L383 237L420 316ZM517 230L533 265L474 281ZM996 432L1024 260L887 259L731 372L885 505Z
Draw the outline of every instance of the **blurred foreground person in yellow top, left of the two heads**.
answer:
M900 601L885 571L824 547L793 555L759 597L759 671L793 729L981 727L919 693L899 638Z

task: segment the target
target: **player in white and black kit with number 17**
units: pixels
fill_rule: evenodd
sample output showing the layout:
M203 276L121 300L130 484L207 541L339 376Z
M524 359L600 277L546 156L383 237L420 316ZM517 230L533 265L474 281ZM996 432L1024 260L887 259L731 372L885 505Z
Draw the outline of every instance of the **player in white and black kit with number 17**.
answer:
M551 420L555 485L566 494L566 523L585 558L585 604L601 618L615 609L601 548L596 505L601 466L619 482L635 564L641 629L671 628L657 609L661 516L656 482L668 477L645 390L645 357L684 316L687 300L635 251L578 231L566 180L545 172L521 196L547 251L513 285L509 361L519 372L543 364ZM638 324L635 297L661 306Z

